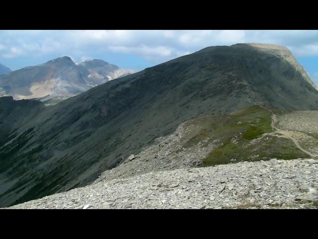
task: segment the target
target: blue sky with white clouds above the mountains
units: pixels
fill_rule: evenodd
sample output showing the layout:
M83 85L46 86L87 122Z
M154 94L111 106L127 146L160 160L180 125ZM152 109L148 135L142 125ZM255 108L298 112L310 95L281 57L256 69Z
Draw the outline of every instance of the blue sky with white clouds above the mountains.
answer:
M70 56L140 71L204 47L245 42L288 47L318 84L318 30L0 30L0 63L17 70Z

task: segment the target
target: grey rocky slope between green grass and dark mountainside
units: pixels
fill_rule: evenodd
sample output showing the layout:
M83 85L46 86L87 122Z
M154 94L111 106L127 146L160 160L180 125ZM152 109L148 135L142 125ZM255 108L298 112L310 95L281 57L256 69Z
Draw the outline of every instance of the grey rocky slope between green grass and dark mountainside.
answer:
M185 125L186 123L180 124L174 133L167 137L157 138L151 146L146 147L138 155L131 155L119 166L104 171L95 182L125 178L148 172L190 168L202 164L201 160L216 145L210 143L203 147L202 144L205 141L202 141L192 147L184 148L182 145L191 137L187 137L187 132L193 132L200 128L199 125Z

